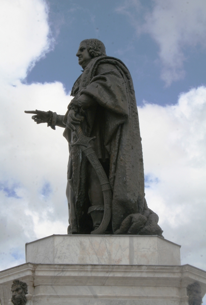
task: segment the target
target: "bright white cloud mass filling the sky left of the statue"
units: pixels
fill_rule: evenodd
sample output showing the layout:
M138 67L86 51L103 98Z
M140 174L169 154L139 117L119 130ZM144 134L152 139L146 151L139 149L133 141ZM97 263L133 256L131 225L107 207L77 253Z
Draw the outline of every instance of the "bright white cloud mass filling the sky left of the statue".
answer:
M25 262L26 242L67 232L68 147L63 129L36 125L24 110L64 114L71 98L58 82L20 82L53 43L48 38L46 3L2 0L0 16L0 269L4 269Z

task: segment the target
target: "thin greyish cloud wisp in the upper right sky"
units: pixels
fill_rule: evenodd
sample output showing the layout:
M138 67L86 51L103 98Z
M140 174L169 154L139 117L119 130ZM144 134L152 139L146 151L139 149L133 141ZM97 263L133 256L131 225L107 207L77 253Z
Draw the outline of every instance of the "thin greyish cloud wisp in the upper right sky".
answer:
M139 1L127 0L117 11L129 17L138 34L148 33L158 44L161 79L166 86L184 78L185 48L206 46L204 0L153 0L151 12L146 12Z

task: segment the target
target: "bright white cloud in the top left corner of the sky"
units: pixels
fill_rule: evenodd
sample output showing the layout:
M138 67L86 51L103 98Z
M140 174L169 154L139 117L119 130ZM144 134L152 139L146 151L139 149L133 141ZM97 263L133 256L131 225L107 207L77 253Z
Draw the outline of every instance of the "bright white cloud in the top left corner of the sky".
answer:
M13 84L51 47L43 0L1 0L0 80Z

